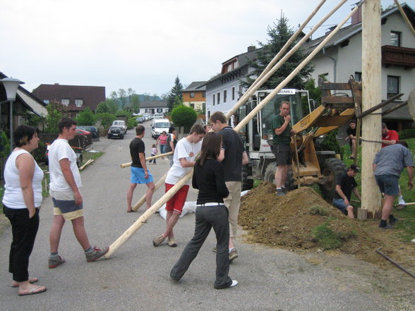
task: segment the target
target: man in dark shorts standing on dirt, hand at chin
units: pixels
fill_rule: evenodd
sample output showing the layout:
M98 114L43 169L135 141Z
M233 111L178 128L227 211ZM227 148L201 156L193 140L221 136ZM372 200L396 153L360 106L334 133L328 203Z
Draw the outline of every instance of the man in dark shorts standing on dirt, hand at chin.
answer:
M292 161L291 135L296 134L290 124L290 106L289 102L281 102L279 114L272 119L272 129L275 133L272 140L272 152L274 152L277 162L277 170L275 171L275 185L277 186L275 194L277 196L285 195L285 181L287 181L287 174Z

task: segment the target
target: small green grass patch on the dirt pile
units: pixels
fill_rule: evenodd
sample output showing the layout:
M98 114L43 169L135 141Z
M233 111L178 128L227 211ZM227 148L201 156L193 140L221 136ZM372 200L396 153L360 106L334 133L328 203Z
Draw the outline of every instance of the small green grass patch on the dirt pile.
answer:
M325 250L332 250L334 248L339 248L342 246L342 242L356 236L356 233L353 231L349 232L335 232L330 226L330 221L325 221L324 224L320 226L315 226L311 230L313 238L318 242L318 244L323 247Z

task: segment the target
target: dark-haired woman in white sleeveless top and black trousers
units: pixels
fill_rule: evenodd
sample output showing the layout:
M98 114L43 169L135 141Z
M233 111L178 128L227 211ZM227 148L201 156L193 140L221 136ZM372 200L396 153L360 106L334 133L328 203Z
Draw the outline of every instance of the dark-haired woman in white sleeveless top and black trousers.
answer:
M13 274L12 287L18 287L18 295L32 295L46 291L36 286L37 278L29 278L29 257L32 253L39 209L42 204L43 171L30 152L39 145L38 130L32 126L18 126L14 132L16 148L4 167L5 191L3 211L10 220L13 241L10 247L8 272Z

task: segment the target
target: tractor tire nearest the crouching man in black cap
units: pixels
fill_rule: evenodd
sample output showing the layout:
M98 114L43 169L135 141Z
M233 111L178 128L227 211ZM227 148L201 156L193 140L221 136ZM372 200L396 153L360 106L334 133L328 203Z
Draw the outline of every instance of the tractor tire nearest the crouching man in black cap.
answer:
M324 185L320 185L320 191L323 198L330 204L335 194L337 177L342 175L344 171L346 171L346 165L344 165L341 159L325 159L321 165L321 173L323 176L329 177L329 181Z

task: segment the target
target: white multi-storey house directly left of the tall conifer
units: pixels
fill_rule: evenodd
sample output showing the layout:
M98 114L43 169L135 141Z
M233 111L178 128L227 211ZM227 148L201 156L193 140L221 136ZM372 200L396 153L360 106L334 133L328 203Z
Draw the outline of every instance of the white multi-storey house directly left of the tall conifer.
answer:
M255 59L257 52L248 47L245 53L224 61L220 73L197 88L205 87L207 120L215 111L226 114L238 102L244 92L240 81L251 72L248 61Z

